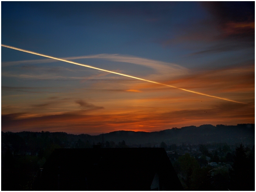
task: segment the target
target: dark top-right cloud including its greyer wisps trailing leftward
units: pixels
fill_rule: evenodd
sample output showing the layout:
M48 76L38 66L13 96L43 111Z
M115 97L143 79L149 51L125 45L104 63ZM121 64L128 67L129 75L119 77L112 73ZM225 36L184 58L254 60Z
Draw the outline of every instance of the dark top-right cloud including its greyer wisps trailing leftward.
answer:
M179 33L173 38L159 40L164 47L183 43L188 46L190 43L188 48L192 51L197 50L191 55L254 49L254 2L199 4L211 17L181 23L177 27Z

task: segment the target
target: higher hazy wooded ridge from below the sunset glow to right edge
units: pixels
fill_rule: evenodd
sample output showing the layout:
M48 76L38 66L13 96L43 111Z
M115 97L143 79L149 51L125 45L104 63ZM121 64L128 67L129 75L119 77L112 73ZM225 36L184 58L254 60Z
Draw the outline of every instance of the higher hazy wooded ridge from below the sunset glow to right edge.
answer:
M101 141L102 134L95 136ZM124 140L127 144L207 144L226 142L227 144L254 144L255 124L238 124L237 126L201 125L166 129L156 132L114 131L104 134L104 141L119 142Z

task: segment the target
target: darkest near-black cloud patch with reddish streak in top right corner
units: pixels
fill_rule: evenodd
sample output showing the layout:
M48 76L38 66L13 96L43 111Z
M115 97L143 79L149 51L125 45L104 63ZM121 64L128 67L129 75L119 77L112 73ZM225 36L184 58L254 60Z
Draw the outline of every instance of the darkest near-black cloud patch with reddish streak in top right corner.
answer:
M222 31L221 38L254 41L255 2L202 2Z

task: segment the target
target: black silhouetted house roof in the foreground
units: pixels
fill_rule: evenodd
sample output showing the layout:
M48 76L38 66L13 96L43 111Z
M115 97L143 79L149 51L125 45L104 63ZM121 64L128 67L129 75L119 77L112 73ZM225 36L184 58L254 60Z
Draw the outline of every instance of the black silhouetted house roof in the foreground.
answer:
M160 190L182 190L163 148L56 149L37 183L38 190L151 190L156 175Z

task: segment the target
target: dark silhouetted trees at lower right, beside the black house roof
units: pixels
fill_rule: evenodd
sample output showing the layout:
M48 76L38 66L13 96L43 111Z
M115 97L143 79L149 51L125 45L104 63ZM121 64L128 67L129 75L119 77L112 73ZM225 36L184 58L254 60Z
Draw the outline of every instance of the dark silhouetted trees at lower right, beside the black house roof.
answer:
M205 146L204 146L205 147ZM200 148L202 148L200 146ZM226 147L224 147L225 149ZM223 149L223 148L222 148ZM209 152L208 152L209 154ZM234 153L228 152L230 159L219 159L221 151L216 150L210 162L202 166L200 158L186 153L172 161L172 165L185 190L255 190L255 149L240 144ZM224 163L226 162L226 163ZM230 166L232 165L232 166Z

